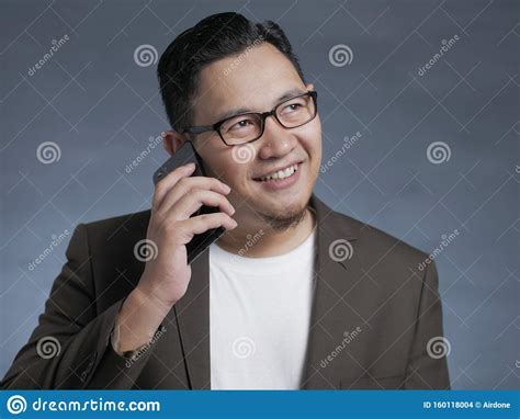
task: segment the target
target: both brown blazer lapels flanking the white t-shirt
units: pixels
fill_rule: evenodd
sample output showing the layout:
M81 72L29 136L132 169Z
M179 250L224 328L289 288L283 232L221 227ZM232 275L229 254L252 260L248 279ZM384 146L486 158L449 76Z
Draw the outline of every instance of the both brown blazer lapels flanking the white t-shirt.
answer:
M315 260L315 293L310 315L306 363L302 376L302 388L330 388L335 378L319 370L324 356L324 339L342 337L350 313L342 319L327 316L331 302L346 287L346 262L342 251L352 251L358 224L349 217L336 213L315 194L309 200L317 220L317 248ZM338 252L332 254L331 252ZM191 265L192 276L185 295L168 315L177 321L186 363L189 386L193 389L211 388L210 365L210 251L206 249ZM349 317L350 316L350 317ZM359 324L359 320L358 320ZM339 338L341 339L341 338ZM329 347L326 347L330 351Z

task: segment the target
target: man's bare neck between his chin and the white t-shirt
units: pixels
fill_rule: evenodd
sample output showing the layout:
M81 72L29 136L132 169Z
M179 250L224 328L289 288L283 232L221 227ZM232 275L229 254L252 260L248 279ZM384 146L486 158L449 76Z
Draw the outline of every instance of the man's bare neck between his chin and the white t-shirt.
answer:
M226 231L217 241L224 250L247 258L269 258L286 253L298 247L316 225L314 210L307 206L303 218L284 230L272 229L267 223L240 223Z

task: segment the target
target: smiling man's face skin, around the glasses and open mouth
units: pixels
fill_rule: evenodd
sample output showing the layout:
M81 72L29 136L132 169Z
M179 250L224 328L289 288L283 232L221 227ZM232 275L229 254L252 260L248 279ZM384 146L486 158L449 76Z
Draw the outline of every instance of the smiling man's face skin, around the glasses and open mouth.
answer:
M270 111L287 92L295 95L294 92L307 90L313 90L313 86L303 83L291 61L274 46L263 43L241 56L212 63L201 71L193 125L214 124L235 110ZM261 219L283 229L304 213L321 160L319 116L291 129L270 116L263 135L246 146L228 147L216 132L199 135L194 145L206 174L231 188L228 199L239 224ZM294 179L284 181L292 183L285 188L273 188L276 181L268 185L258 180L295 163L297 171L291 177Z

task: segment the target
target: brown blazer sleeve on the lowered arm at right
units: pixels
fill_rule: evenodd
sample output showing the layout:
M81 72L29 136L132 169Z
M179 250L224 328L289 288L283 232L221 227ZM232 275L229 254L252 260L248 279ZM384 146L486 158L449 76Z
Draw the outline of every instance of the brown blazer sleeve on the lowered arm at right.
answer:
M442 304L434 262L428 264L421 286L415 338L411 347L405 388L450 389L446 356L450 342L443 335Z

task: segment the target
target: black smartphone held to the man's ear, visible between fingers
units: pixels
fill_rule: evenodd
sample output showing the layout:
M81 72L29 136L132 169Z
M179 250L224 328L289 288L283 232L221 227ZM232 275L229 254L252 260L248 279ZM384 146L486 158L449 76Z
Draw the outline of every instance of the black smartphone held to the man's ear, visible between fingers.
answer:
M195 163L195 170L191 175L206 175L199 154L194 150L193 145L190 141L186 141L173 156L171 156L159 169L157 169L157 171L154 173L154 184L157 184L157 182L159 182L172 170L180 166L188 165L189 162ZM191 217L202 214L217 213L218 211L219 208L217 206L202 205L191 215ZM196 258L199 258L201 253L210 247L211 244L216 241L224 234L224 227L217 227L193 236L191 241L186 244L188 263L191 263Z

